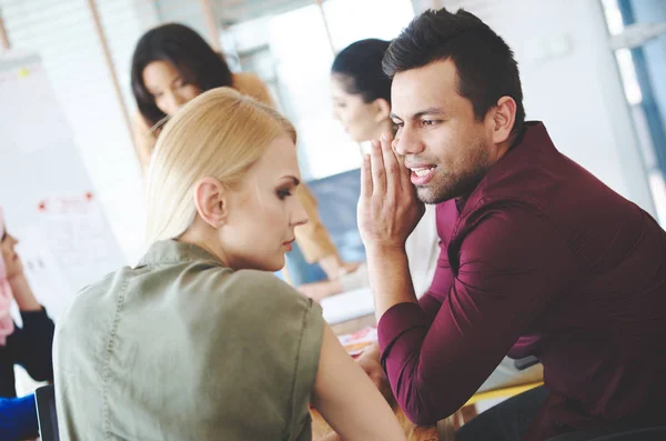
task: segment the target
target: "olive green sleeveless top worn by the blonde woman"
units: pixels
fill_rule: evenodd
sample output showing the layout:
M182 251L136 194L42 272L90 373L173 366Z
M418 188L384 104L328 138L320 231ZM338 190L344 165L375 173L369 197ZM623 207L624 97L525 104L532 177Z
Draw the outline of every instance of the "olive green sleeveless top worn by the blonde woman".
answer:
M64 440L311 440L321 308L176 241L85 288L57 324Z

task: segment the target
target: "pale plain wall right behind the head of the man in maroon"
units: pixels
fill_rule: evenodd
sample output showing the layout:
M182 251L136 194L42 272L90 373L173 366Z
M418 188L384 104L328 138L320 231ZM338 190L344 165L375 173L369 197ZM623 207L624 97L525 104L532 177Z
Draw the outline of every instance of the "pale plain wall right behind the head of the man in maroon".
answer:
M431 1L415 0L418 11ZM527 119L618 193L655 213L597 0L445 0L477 14L513 48Z

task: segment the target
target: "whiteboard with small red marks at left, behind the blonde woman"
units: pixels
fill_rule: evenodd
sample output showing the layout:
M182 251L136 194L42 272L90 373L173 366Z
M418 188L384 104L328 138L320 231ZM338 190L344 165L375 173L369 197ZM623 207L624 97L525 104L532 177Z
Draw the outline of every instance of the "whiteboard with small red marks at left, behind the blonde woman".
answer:
M54 319L81 288L124 263L36 54L0 54L0 206Z

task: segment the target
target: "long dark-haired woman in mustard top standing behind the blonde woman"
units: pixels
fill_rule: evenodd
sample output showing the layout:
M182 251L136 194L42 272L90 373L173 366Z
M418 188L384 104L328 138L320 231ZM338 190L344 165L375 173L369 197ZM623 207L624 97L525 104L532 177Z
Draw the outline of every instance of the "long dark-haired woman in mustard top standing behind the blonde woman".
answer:
M206 90L231 87L240 93L274 107L265 84L253 73L231 72L224 58L194 30L169 23L148 31L134 49L131 70L137 100L134 144L141 167L148 170L160 122ZM299 198L307 212L306 225L296 229L296 240L309 263L316 262L330 280L356 268L340 258L335 244L320 220L317 202L306 186Z

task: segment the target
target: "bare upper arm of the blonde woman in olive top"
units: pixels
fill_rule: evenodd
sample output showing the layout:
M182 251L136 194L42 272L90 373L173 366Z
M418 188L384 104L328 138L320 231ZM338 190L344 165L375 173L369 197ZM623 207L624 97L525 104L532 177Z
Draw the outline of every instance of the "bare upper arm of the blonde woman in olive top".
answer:
M313 404L343 440L406 439L386 400L327 324L324 324Z

